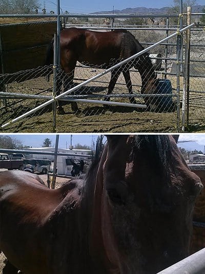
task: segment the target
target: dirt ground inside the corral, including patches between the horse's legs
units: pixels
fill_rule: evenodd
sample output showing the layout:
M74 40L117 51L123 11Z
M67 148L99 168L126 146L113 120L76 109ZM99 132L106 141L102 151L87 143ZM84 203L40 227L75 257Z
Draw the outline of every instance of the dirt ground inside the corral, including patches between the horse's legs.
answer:
M79 70L79 69L78 69ZM85 79L92 77L97 72L90 69L80 68L80 74L76 77ZM86 86L82 93L93 95L106 95L110 75L99 79L99 82L92 82ZM133 84L136 86L133 90L137 93L140 86L140 78L138 74L133 74ZM36 84L37 83L37 84ZM77 82L76 82L77 83ZM113 94L127 94L127 89L122 86L124 79L119 78ZM50 83L46 83L43 77L38 79L25 81L25 83L16 83L8 85L8 92L50 95L51 92L44 90L51 88ZM102 90L103 89L103 90ZM42 93L43 91L43 93ZM80 91L81 92L81 91ZM96 98L100 100L100 98ZM114 101L126 102L125 99L112 99ZM137 99L137 103L145 104L144 100ZM31 111L33 107L44 103L43 100L7 100L7 106L0 107L0 124L3 125L16 117ZM56 127L53 129L53 117L51 105L20 120L15 124L11 124L5 128L4 132L73 132L73 133L106 133L106 132L176 132L176 112L154 113L145 111L141 108L110 106L105 108L102 104L78 103L79 111L77 114L72 112L71 104L64 103L64 115L56 116Z

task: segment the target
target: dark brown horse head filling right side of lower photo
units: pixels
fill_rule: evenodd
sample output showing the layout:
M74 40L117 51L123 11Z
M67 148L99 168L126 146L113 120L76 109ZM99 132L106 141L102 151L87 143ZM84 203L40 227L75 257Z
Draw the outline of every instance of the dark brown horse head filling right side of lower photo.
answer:
M171 136L107 139L101 214L109 220L102 233L104 245L118 250L108 252L109 260L118 262L120 273L156 273L189 254L200 179Z

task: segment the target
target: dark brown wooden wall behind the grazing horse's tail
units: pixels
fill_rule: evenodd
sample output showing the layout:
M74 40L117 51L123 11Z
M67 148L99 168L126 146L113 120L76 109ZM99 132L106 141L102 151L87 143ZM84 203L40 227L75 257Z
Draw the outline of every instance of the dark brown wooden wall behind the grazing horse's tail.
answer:
M0 74L44 65L56 21L0 25Z

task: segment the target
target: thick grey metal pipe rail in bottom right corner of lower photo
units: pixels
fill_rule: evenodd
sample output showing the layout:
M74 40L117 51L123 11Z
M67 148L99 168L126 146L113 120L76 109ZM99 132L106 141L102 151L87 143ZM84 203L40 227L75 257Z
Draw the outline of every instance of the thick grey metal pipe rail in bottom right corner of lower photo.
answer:
M158 272L157 274L204 274L205 273L205 248L190 255L182 261Z

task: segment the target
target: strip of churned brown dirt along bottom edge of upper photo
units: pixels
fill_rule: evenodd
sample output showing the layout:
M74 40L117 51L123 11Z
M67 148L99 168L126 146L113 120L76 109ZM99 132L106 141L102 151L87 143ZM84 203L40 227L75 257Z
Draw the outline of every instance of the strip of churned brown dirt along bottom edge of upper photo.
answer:
M3 132L12 133L136 133L136 132L177 132L177 113L154 113L140 111L136 108L102 105L85 105L78 103L80 112L74 114L71 105L64 106L65 114L56 115L56 127L53 129L51 109L45 108L40 113L24 118L6 127ZM24 109L24 107L22 107ZM205 117L203 109L191 107L190 116L194 117L187 129L190 132L205 132ZM8 122L5 116L12 117L13 112L21 114L21 109L2 111L0 123ZM0 111L1 113L1 111ZM181 113L180 113L181 117Z

